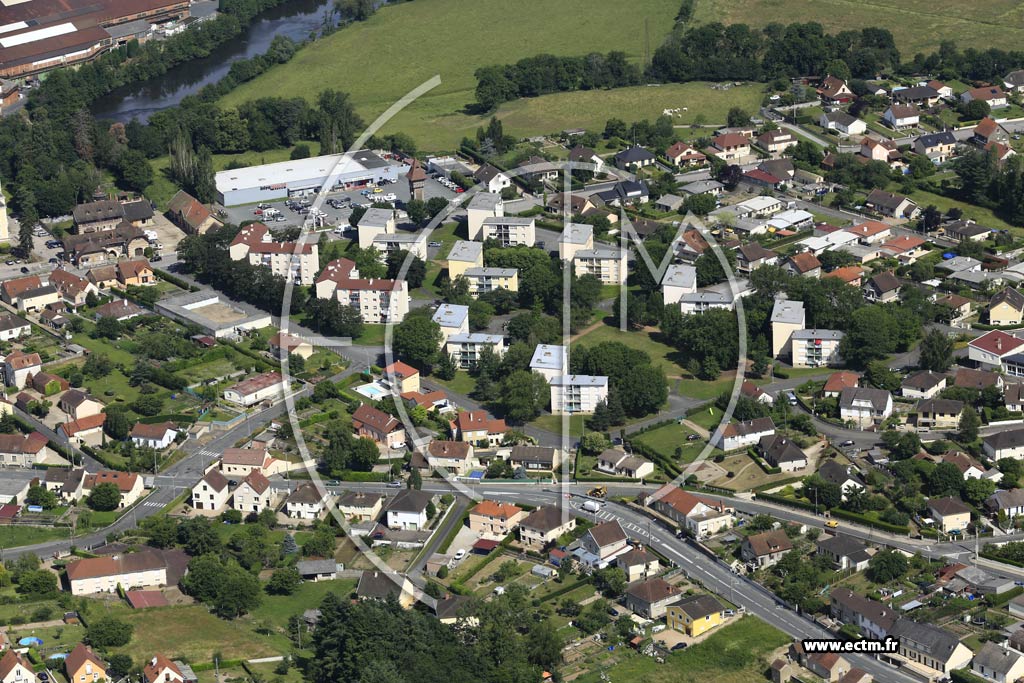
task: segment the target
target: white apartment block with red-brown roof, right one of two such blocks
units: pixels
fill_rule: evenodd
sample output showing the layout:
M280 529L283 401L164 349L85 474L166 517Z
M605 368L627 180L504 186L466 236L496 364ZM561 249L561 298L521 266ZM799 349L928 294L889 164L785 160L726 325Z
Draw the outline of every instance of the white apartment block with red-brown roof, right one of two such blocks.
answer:
M409 283L365 280L347 258L331 261L316 279L317 299L337 299L359 311L364 323L401 323L409 313Z

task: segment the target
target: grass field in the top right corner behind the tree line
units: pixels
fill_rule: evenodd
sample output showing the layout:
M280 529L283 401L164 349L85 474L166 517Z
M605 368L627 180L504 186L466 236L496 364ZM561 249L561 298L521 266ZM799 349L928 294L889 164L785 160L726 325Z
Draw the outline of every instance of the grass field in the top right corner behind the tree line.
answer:
M943 40L961 48L1004 49L1016 49L1024 41L1024 7L1015 0L978 5L957 0L697 0L694 20L753 26L817 22L827 33L882 27L893 33L903 58L931 52Z

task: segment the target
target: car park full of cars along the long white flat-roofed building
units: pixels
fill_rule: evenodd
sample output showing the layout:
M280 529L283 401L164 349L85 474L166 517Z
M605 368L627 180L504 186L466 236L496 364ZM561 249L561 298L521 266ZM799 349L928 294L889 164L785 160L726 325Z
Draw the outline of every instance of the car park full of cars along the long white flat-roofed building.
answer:
M319 211L323 214L323 226L324 227L334 227L337 225L347 225L348 217L352 213L352 207L365 206L369 207L374 202L383 202L385 197L393 196L394 199L389 203L401 207L406 202L409 201L409 183L406 182L404 178L399 178L397 182L392 182L388 184L381 185L379 187L381 191L373 193L372 196L364 196L362 189L351 189L351 190L339 190L334 193L329 193L324 204L319 207ZM424 197L426 199L432 199L434 197L442 197L445 200L452 200L456 197L456 193L449 189L440 182L433 178L428 178L424 184ZM227 212L227 221L230 223L239 224L244 221L250 220L263 220L268 225L273 227L296 227L302 225L307 218L307 214L300 213L295 205L295 202L306 202L311 208L312 202L315 199L314 196L310 195L308 197L293 197L291 200L278 200L274 202L265 202L260 206L269 207L271 209L271 215L273 220L269 218L263 218L263 209L258 209L257 205L245 205L237 206L225 209ZM390 199L390 197L389 197ZM331 204L329 204L331 202ZM292 206L289 206L292 204ZM332 206L335 204L336 206ZM259 211L259 213L256 213Z

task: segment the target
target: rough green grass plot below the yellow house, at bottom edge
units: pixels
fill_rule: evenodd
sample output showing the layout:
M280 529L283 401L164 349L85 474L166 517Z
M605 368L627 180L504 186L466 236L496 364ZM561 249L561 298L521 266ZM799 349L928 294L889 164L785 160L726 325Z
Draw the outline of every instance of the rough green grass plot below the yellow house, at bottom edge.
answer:
M715 681L715 683L750 683L765 679L768 654L790 642L788 636L755 616L744 616L734 624L721 627L707 640L681 652L672 652L665 665L653 657L636 654L617 655L618 661L605 673L606 680L671 683L675 681ZM611 656L611 655L609 655ZM581 683L597 683L601 670L594 670L575 679Z

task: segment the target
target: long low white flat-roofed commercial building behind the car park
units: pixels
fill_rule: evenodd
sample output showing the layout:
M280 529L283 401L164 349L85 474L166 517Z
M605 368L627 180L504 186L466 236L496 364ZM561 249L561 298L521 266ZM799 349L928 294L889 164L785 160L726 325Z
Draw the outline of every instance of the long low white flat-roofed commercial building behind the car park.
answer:
M217 202L228 207L313 195L329 179L331 189L351 189L383 179L396 182L408 168L369 150L354 152L351 157L325 155L236 168L217 173Z

